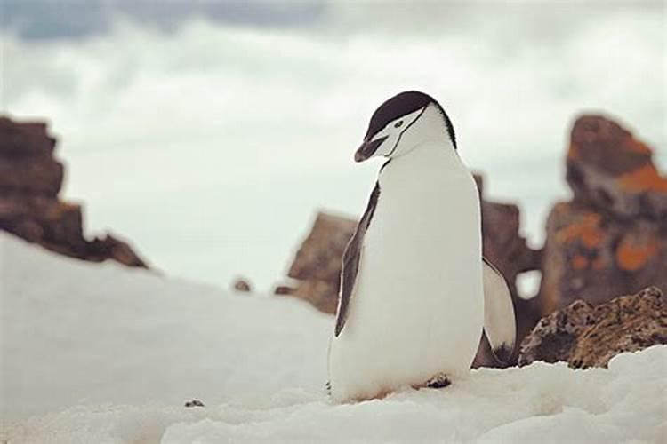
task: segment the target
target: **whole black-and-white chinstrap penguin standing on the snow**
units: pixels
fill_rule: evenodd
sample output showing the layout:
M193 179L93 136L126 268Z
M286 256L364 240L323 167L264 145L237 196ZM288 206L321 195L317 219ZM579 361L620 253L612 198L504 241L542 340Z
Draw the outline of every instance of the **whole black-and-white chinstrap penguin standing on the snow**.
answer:
M356 162L386 157L342 258L329 343L333 400L382 398L464 377L482 331L514 348L502 274L482 256L479 194L436 99L405 91L375 110Z

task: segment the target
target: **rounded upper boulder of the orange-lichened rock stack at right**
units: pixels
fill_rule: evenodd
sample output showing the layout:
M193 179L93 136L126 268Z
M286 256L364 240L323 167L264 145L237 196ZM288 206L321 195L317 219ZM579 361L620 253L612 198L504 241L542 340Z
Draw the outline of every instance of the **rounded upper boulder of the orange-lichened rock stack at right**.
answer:
M667 178L655 169L653 151L630 131L601 115L583 115L573 126L567 183L575 202L620 218L667 218Z

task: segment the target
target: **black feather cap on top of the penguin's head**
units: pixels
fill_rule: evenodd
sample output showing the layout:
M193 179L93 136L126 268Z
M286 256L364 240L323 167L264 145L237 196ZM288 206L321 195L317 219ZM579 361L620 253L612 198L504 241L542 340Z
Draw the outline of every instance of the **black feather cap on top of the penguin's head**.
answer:
M449 120L449 116L446 114L445 110L440 106L436 99L433 99L430 97L430 95L424 94L420 91L401 92L382 103L382 105L378 107L373 113L371 122L368 123L368 131L366 131L365 139L373 139L374 135L378 131L382 131L382 128L387 126L387 123L398 119L398 117L401 115L408 115L418 109L426 107L430 103L435 105L435 107L438 108L440 114L442 114L445 120L447 133L449 134L449 139L452 140L452 145L454 145L455 149L456 137L454 134L454 127L452 126L452 121Z

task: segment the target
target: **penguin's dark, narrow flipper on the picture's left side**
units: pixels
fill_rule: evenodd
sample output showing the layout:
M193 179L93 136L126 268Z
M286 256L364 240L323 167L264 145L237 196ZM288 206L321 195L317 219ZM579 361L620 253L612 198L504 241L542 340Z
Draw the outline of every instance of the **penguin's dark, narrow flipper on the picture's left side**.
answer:
M373 218L379 196L380 185L376 182L373 193L371 193L371 199L366 206L366 211L364 211L364 215L359 220L357 230L352 235L348 246L342 254L341 297L338 301L338 313L336 315L336 336L341 334L345 321L348 319L348 306L350 305L354 284L357 281L364 235L368 226L371 225L371 218Z

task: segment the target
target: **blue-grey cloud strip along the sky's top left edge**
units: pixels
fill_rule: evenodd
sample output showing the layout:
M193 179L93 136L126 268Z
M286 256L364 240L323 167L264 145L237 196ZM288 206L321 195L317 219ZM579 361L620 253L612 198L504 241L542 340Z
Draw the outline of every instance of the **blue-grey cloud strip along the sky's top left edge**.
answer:
M197 17L221 24L303 26L324 11L323 2L303 0L4 0L2 22L30 40L80 39L108 33L119 18L173 32Z

